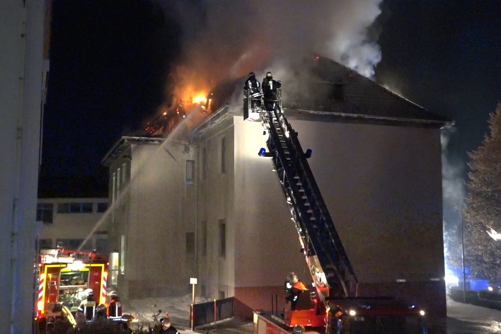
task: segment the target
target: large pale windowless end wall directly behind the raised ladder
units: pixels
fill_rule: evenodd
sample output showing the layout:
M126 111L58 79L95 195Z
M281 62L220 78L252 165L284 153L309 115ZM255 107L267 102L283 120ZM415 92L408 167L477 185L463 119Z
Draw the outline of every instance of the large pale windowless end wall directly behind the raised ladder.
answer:
M405 279L420 296L412 301L444 315L443 280L430 280L444 276L439 130L290 122L303 149L313 150L309 164L365 283L361 292L384 285L379 292L409 297L410 288L402 288L409 283L396 282ZM240 117L234 123L235 203L241 203L234 208L240 217L235 286L283 284L289 270L309 280L301 275L304 259L272 164L257 156L265 147L260 124Z

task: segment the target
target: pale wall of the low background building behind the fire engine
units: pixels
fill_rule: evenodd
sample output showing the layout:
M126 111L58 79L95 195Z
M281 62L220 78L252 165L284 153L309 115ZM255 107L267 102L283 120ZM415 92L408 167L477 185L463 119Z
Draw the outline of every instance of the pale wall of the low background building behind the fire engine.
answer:
M43 224L40 239L51 239L52 246L55 247L57 239L85 239L99 220L103 213L97 212L97 203L108 203L107 198L43 198L38 203L52 203L53 222ZM92 213L58 213L58 203L94 203ZM97 233L92 235L90 245L96 248L96 239L108 238L108 224L100 224Z

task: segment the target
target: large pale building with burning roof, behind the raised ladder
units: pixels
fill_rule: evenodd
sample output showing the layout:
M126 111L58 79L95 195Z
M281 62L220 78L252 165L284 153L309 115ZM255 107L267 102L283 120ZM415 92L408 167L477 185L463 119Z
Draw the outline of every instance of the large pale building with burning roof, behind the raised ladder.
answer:
M284 112L313 150L359 294L444 317L440 129L451 122L332 60L312 62L307 93L283 81ZM261 124L229 103L239 89L215 89L212 113L187 136L123 137L105 157L110 198L120 199L110 239L129 297L187 293L197 277L199 293L234 296L246 316L283 295L288 272L309 279L273 166L258 156Z

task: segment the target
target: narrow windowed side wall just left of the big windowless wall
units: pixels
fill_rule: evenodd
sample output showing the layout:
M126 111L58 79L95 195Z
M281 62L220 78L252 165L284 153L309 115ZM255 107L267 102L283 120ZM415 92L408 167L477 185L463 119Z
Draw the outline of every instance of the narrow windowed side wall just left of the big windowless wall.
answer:
M235 287L235 231L241 217L233 212L233 121L221 123L197 142L197 275L198 291L206 297L233 296ZM224 168L222 172L222 140ZM225 256L221 256L220 224L225 224ZM206 239L206 241L204 241ZM203 248L206 247L206 251Z

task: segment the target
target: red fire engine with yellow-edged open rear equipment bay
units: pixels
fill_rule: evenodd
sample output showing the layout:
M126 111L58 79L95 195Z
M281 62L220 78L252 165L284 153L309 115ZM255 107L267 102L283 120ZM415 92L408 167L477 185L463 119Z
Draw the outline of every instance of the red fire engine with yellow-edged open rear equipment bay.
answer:
M106 304L108 257L104 254L64 248L42 249L38 261L36 320L53 316L53 307L77 311L92 289L98 304ZM62 311L65 313L65 311ZM64 314L63 314L64 315ZM71 321L71 319L70 319Z

